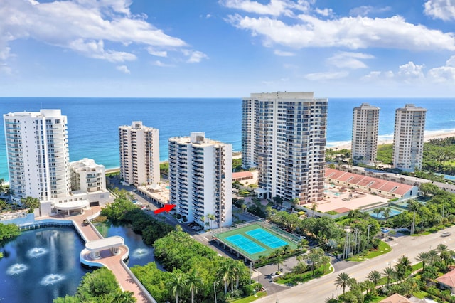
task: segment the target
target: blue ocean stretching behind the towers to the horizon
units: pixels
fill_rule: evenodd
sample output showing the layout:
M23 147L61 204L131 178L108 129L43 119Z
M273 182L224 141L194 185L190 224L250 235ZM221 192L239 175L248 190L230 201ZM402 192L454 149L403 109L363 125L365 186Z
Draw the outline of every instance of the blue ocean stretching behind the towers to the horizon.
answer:
M320 97L320 96L316 96ZM393 138L395 109L413 103L427 108L425 131L455 130L455 99L441 98L329 98L327 147L350 141L353 107L363 102L380 107L380 140ZM160 160L168 159L170 137L205 132L205 137L232 144L240 151L239 98L48 98L1 97L2 114L61 109L68 116L70 161L95 159L107 169L119 166L118 127L142 121L159 129ZM4 124L0 125L0 178L8 180Z

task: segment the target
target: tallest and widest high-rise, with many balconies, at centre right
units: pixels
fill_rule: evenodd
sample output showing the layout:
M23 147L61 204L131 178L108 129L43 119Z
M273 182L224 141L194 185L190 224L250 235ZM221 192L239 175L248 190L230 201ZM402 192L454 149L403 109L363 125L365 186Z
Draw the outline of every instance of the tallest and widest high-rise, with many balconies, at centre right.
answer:
M253 93L242 102L242 161L264 198L323 198L327 99L313 92Z

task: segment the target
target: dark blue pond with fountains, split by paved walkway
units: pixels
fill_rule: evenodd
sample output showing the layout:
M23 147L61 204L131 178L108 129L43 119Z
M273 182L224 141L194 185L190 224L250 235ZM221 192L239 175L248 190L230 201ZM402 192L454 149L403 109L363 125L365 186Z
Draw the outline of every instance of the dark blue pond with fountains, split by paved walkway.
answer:
M107 236L119 235L129 247L129 267L154 261L153 248L124 226L109 226ZM42 303L74 295L86 272L79 254L84 241L73 228L40 228L23 232L0 248L0 302ZM159 268L160 265L157 264Z

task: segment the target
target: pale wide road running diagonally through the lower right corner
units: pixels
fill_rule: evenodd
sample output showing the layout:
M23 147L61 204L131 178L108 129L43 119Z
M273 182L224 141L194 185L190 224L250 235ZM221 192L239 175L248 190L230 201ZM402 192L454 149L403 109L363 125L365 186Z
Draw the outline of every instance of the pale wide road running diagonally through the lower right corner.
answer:
M447 228L452 235L455 235L455 227ZM257 303L295 303L295 302L325 302L327 298L336 297L337 289L335 280L340 272L346 272L351 277L354 277L358 281L366 279L368 273L372 270L378 270L382 272L385 267L394 266L397 260L406 255L410 258L411 262L416 262L415 257L420 252L436 248L437 245L444 243L449 249L455 249L455 237L453 236L441 238L441 232L431 235L421 235L418 237L400 236L394 238L390 245L392 251L385 255L380 255L374 259L359 262L356 265L348 267L338 272L333 272L330 275L323 276L319 279L314 279L289 289L285 289L282 292L271 294L267 297L258 299ZM339 294L341 290L338 289Z

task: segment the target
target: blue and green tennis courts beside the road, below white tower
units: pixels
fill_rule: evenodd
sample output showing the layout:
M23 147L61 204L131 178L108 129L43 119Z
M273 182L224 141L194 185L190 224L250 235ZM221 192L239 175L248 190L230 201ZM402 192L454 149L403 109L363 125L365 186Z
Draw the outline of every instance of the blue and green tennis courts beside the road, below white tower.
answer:
M259 224L219 233L215 238L250 260L258 260L261 256L267 257L284 246L288 246L291 250L297 248L293 240Z

